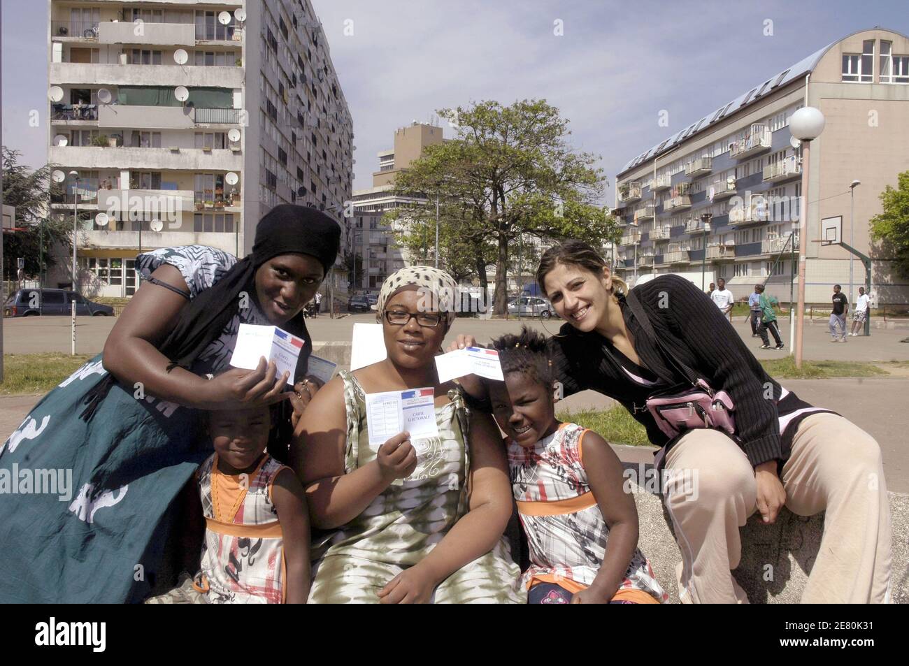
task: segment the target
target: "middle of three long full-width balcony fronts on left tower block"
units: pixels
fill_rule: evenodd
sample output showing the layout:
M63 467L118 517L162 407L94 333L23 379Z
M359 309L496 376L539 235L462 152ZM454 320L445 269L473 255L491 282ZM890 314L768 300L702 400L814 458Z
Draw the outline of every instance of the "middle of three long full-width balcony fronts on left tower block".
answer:
M243 169L243 155L228 149L205 151L201 148L181 148L174 152L170 148L52 145L47 149L47 161L80 169L117 171L189 170L223 173Z

